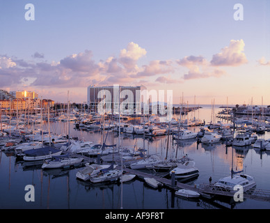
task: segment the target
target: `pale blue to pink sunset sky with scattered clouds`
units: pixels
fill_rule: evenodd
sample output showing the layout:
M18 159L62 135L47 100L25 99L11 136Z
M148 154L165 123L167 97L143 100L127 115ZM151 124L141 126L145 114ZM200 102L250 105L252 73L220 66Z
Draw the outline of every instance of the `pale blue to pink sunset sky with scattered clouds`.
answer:
M0 0L0 89L86 102L90 85L143 84L173 104L270 105L269 75L269 0Z

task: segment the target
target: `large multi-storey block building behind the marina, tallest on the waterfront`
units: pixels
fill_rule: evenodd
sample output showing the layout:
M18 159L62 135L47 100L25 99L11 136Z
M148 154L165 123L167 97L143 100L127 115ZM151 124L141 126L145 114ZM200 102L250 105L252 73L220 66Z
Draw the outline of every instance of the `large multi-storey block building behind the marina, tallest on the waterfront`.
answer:
M120 103L123 106L121 111L128 114L141 113L141 91L146 90L145 86L88 86L87 105L91 112L116 114ZM103 96L102 96L103 95ZM104 107L102 107L104 102Z

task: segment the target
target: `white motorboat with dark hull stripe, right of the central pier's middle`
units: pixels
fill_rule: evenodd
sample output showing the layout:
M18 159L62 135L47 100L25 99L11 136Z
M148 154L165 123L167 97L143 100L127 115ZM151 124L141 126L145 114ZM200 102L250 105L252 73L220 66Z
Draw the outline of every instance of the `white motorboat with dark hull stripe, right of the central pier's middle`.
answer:
M186 161L180 163L177 167L170 171L170 176L175 173L175 179L190 178L199 174L198 168L195 167L195 162Z

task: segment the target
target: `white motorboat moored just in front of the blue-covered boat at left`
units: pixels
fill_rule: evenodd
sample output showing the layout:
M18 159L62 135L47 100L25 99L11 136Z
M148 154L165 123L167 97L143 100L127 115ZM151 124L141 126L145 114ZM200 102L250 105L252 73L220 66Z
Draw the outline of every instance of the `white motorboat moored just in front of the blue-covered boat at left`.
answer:
M51 160L45 160L42 164L42 169L45 168L62 168L67 166L73 166L79 164L84 160L83 157L70 157L68 154L57 155L51 158Z

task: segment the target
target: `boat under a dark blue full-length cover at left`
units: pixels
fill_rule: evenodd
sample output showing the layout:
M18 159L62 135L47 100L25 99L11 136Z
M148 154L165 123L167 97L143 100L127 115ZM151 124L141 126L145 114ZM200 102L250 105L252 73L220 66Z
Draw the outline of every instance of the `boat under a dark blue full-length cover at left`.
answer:
M36 161L36 160L46 160L51 159L54 155L61 155L62 150L46 146L41 148L33 148L28 151L24 151L23 160L24 161Z

